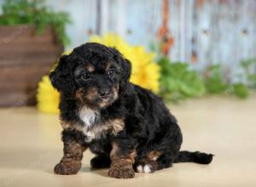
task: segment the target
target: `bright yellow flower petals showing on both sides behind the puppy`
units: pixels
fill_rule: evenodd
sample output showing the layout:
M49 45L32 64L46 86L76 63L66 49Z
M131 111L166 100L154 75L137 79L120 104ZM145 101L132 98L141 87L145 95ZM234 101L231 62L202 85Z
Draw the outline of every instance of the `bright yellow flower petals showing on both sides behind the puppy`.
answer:
M126 59L131 61L131 82L148 88L154 93L159 92L160 66L154 62L155 55L153 53L148 53L143 46L131 46L121 37L112 33L103 37L90 37L90 42L99 42L108 47L117 48ZM59 112L60 94L50 84L48 76L44 76L38 83L37 98L39 111L53 114Z

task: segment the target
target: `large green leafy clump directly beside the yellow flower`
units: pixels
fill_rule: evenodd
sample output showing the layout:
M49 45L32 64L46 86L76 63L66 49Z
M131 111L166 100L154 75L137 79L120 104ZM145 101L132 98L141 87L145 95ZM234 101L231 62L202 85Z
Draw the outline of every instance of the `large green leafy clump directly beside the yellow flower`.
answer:
M171 63L163 57L158 61L161 67L160 94L164 99L178 101L205 94L201 77L189 70L189 65L181 62Z

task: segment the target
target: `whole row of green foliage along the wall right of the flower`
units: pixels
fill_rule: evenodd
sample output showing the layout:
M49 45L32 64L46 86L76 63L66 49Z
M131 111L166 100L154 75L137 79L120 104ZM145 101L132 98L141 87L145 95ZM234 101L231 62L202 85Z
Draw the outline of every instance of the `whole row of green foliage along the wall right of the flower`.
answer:
M166 100L177 102L180 99L202 96L206 93L233 94L238 98L246 99L250 94L247 84L241 81L232 84L224 77L222 65L211 65L202 79L198 72L189 70L189 64L171 63L166 57L160 58L158 62L161 67L160 94ZM252 59L241 62L247 70L247 82L254 86L256 75L253 74L252 66L255 62Z

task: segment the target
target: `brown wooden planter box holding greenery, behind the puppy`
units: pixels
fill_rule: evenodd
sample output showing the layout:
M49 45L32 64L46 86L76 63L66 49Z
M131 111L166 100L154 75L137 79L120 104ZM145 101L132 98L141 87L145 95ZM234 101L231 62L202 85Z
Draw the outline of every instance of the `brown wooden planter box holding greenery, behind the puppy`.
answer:
M49 72L63 48L47 29L0 26L0 106L35 105L38 82Z

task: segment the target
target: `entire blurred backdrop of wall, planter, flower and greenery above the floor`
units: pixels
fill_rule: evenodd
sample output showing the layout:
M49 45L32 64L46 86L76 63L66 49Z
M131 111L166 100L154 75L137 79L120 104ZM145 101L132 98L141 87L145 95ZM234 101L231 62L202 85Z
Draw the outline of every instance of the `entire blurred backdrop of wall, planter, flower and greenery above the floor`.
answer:
M56 113L58 94L45 75L62 53L89 41L118 48L131 59L131 82L166 101L207 94L246 99L256 86L254 0L0 0L0 6L1 106L39 103Z

